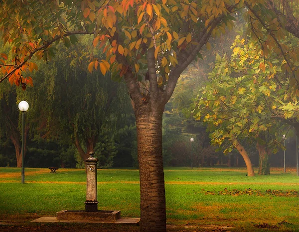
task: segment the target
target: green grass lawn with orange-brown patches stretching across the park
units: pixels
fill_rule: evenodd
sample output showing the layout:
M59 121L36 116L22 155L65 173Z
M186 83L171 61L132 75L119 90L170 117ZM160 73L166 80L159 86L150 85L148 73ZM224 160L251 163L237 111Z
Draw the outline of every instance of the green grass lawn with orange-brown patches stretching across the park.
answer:
M286 174L282 170L272 169L269 176L247 177L245 168L165 168L167 224L271 231L254 226L267 223L277 226L276 231L299 232L299 177L295 170ZM22 185L20 168L0 168L0 220L84 210L85 171L49 172L25 169ZM244 194L249 189L253 194ZM288 195L291 190L298 192ZM101 210L121 210L122 217L140 217L138 170L98 170L98 201Z

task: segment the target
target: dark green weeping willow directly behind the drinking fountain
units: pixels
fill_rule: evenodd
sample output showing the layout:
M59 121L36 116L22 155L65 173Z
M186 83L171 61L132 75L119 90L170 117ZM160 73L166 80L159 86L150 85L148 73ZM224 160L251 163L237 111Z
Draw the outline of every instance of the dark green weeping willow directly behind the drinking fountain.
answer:
M43 64L34 74L36 91L26 92L35 95L31 98L36 99L36 114L43 115L40 136L71 140L85 160L90 151L99 150L99 144L107 146L107 134L109 143L113 144L111 136L122 126L131 106L123 83L114 82L109 74L87 71L90 47L86 44L90 41L88 37L80 40L76 47L59 46L55 59ZM111 158L103 159L111 162Z

